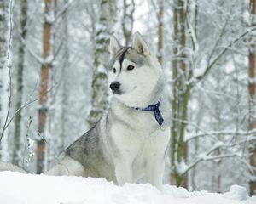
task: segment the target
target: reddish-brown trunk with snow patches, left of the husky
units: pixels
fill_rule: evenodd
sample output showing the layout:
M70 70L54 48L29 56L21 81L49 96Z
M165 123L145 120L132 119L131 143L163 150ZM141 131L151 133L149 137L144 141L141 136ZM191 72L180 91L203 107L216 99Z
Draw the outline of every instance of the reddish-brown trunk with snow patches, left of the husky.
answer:
M51 54L51 22L49 21L50 12L53 12L54 1L44 0L44 31L43 31L43 59L49 59ZM40 134L38 139L37 149L37 173L42 173L44 170L44 130L47 120L47 93L49 85L49 70L51 64L47 60L44 61L44 65L41 67L41 82L40 82L40 108L38 110L38 133Z

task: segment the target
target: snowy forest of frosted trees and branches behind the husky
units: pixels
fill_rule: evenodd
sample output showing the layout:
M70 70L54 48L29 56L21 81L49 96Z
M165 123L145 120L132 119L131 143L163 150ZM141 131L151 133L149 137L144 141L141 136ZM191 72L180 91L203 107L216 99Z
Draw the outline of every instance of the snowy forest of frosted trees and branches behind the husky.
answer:
M256 195L256 0L0 0L0 161L42 173L92 127L135 31L168 82L164 183Z

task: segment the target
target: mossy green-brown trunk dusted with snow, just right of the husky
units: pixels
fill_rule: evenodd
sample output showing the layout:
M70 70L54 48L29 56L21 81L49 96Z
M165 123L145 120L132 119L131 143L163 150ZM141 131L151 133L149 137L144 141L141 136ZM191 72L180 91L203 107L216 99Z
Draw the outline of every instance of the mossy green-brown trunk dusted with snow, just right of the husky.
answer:
M185 63L186 47L185 35L185 8L183 0L177 0L174 6L174 41L172 61L172 121L171 133L171 182L177 186L187 187L187 175L183 174L181 166L187 160L187 145L184 142L184 134L187 120L189 95L191 85L187 84L192 77L189 65Z

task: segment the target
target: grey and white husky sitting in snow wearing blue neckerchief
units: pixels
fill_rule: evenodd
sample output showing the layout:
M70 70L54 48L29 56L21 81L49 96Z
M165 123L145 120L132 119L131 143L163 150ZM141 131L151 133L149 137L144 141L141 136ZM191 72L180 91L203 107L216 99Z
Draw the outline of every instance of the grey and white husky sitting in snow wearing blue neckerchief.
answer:
M138 32L131 47L111 38L108 83L108 112L46 174L104 177L119 185L145 175L160 189L170 109L162 68Z

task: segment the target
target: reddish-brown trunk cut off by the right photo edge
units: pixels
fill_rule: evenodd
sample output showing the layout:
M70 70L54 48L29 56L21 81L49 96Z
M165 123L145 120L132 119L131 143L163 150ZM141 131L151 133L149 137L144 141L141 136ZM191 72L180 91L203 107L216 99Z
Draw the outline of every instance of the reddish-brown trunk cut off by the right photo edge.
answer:
M251 26L256 26L256 0L250 0ZM255 84L255 69L256 69L256 36L251 34L249 48L249 130L256 128L256 84ZM249 182L251 195L256 195L256 143L249 145L250 165L253 168L251 179Z

